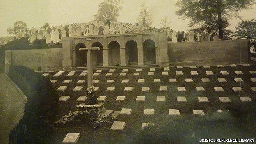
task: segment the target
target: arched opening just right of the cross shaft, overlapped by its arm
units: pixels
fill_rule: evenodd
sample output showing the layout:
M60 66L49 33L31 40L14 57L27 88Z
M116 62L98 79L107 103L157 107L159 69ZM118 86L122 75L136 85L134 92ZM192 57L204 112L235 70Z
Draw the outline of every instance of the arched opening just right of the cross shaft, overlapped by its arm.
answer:
M91 45L91 47L99 47L100 51L94 51L92 53L92 60L95 62L93 65L95 66L103 66L103 46L99 42L95 42Z

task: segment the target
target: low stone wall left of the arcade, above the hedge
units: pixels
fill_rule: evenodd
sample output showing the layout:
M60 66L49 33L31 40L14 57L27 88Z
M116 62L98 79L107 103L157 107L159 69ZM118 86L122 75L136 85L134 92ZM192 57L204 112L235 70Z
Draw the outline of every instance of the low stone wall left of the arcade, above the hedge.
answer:
M9 66L27 66L35 71L62 69L62 48L7 50L5 51L5 72Z

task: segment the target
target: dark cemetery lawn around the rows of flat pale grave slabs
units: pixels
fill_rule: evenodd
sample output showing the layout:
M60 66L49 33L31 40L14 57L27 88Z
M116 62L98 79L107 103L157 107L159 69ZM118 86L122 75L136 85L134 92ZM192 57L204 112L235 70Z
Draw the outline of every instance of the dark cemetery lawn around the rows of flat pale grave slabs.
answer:
M122 108L132 109L130 115L119 115L118 121L125 121L126 126L124 130L110 130L108 128L99 128L98 130L91 130L90 128L60 128L55 127L56 132L56 143L61 143L67 133L80 133L81 137L78 140L78 144L84 143L132 143L134 139L137 138L137 134L141 131L142 123L154 123L155 126L165 125L171 121L176 123L183 123L184 121L190 123L194 119L200 119L203 117L213 119L213 121L218 121L219 117L216 115L218 109L229 110L230 113L225 113L225 119L235 119L235 114L240 114L237 111L240 109L247 109L248 113L255 113L256 104L256 92L251 90L251 87L256 87L256 83L251 81L251 78L256 78L256 74L251 74L249 71L255 71L256 65L242 66L238 67L224 66L223 68L218 68L217 66L210 66L210 68L197 67L196 69L191 69L190 67L183 67L183 69L178 69L177 67L170 67L168 71L169 75L162 76L163 68L156 68L154 75L148 75L149 68L142 69L139 76L134 76L136 69L129 69L126 76L119 76L122 69L116 69L112 76L105 76L109 70L103 70L99 76L94 76L94 80L100 80L98 84L94 86L99 87L96 92L98 96L107 96L105 100L105 108L107 110L121 111ZM176 71L182 71L183 75L176 75ZM191 75L191 71L197 71L198 75ZM214 75L206 75L206 71L213 71ZM229 75L222 75L220 71L227 71ZM242 71L243 75L235 74L235 71ZM53 77L56 72L44 72L50 73L47 78L49 80L58 80L54 85L57 89L59 86L67 86L64 91L58 91L60 96L70 96L69 100L66 102L59 102L59 119L62 115L69 113L69 111L74 112L75 106L82 103L77 102L76 99L79 96L85 95L85 89L87 87L87 77L80 77L82 71L77 71L72 77L67 77L66 75L69 71L65 71L59 77ZM95 72L95 70L94 70ZM77 84L78 80L83 80L85 78L84 84ZM169 82L170 78L176 78L177 82ZM192 78L194 82L185 82L185 78ZM210 82L203 83L202 78L209 78ZM227 82L219 82L218 78L225 78ZM242 78L244 82L235 82L234 78ZM69 84L63 84L64 80L72 80ZM129 79L128 83L121 83L123 79ZM145 79L144 83L137 83L138 79ZM161 79L161 82L154 83L154 79ZM106 83L107 80L114 80L113 83ZM82 91L73 91L75 86L83 86ZM106 91L107 87L114 86L114 91ZM160 86L167 86L167 91L159 91ZM132 91L124 91L125 87L133 87ZM150 87L150 91L142 92L142 87ZM185 87L186 91L178 91L177 87ZM204 87L205 91L196 91L196 87ZM222 87L224 92L216 92L213 87ZM242 92L235 92L232 87L241 87ZM117 96L126 96L125 101L116 102ZM137 102L137 96L145 96L146 100L144 102ZM157 96L165 96L165 102L157 102ZM178 102L177 96L185 96L187 102ZM251 102L242 102L240 96L249 96ZM207 97L209 102L199 102L198 97ZM231 103L222 103L219 97L229 97ZM153 108L155 114L151 116L144 116L145 108ZM169 109L178 109L181 116L169 116ZM193 110L203 110L206 116L194 116ZM235 120L234 120L235 121ZM205 127L203 129L198 129L195 132L195 137L197 138L220 138L220 137L238 137L245 138L255 138L254 125L249 126L243 121L236 121L242 123L240 126L249 129L241 129L237 125L224 123L223 125ZM250 123L249 123L250 124ZM182 124L181 124L182 125ZM184 129L189 129L192 127L197 127L194 125L182 125ZM168 127L168 125L167 125ZM206 132L207 131L207 132ZM212 132L215 135L211 135ZM170 132L171 133L171 132ZM251 134L251 135L249 135ZM185 137L192 136L192 132ZM233 137L232 137L233 136ZM251 137L250 137L251 136Z

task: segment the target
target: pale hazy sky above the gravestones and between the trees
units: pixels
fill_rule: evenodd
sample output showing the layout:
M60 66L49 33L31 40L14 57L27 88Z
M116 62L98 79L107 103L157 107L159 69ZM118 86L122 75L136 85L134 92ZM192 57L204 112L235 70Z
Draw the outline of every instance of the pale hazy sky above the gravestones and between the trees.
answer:
M27 27L39 28L44 23L64 25L83 23L94 20L93 15L98 11L98 5L103 0L0 0L0 37L7 37L8 27L13 27L16 21L27 23ZM177 0L123 0L123 9L119 11L118 21L123 23L137 22L142 2L151 12L152 26L161 27L162 18L169 19L173 30L186 31L189 20L183 20L175 14ZM252 9L239 13L243 19L256 18L256 4ZM234 30L240 19L232 19L229 29Z

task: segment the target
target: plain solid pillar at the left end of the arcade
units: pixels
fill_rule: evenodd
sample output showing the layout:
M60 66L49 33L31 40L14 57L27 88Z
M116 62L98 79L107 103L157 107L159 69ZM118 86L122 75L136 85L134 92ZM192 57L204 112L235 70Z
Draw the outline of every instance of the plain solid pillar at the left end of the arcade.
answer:
M62 38L62 69L72 69L71 37Z

